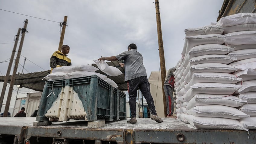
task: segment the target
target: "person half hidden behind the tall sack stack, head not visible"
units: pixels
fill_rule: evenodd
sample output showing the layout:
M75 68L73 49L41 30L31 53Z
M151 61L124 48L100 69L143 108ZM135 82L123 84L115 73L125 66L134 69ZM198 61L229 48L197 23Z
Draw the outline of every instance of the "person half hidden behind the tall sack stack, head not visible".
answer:
M165 77L164 83L164 91L165 91L165 98L166 98L166 110L167 110L167 117L168 118L177 118L173 115L174 110L174 97L172 94L174 88L174 72L175 67L168 70Z

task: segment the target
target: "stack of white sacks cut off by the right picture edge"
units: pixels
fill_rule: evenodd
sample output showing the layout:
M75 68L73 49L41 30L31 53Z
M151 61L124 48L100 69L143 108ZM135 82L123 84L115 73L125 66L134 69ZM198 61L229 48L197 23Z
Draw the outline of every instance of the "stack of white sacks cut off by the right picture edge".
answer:
M247 129L256 129L256 14L230 15L221 18L217 25L224 27L225 45L234 48L228 56L237 57L229 65L238 69L234 75L243 80L237 83L242 86L238 97L247 103L238 108L250 117L238 121Z

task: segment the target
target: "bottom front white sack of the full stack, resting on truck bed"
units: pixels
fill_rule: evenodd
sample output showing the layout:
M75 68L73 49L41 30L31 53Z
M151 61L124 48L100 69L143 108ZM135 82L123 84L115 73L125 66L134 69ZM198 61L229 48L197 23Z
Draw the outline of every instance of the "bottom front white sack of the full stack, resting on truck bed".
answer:
M185 116L185 119L197 129L229 129L245 130L238 120L220 117L195 117L191 114Z

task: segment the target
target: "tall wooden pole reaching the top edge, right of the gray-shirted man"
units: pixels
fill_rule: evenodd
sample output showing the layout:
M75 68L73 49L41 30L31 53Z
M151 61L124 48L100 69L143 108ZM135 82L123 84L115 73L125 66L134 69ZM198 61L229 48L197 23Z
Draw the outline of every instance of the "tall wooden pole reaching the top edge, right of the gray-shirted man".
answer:
M164 54L162 27L161 27L161 18L160 18L160 10L159 10L158 0L155 0L155 13L156 13L155 15L156 15L156 25L157 25L157 36L158 36L158 50L159 50L160 68L161 68L163 102L164 102L164 111L165 111L165 117L166 117L167 116L166 115L166 99L165 99L165 91L164 91L164 83L165 83L165 76L166 76L165 54Z

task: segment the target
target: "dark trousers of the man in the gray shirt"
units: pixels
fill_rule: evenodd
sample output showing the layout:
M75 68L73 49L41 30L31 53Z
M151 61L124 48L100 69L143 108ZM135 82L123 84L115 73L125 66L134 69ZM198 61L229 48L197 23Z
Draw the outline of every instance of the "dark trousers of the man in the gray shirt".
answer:
M129 93L129 104L131 110L131 117L136 117L136 98L137 90L141 91L142 95L147 101L149 110L152 115L157 115L155 110L154 100L150 93L150 84L146 76L131 79L127 82L128 93Z

